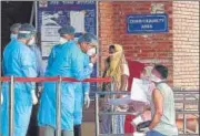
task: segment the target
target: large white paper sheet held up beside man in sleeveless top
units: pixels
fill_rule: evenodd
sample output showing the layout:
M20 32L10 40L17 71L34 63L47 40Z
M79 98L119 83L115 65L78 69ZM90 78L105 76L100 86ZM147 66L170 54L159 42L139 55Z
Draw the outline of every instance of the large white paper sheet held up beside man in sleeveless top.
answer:
M148 103L148 90L149 85L146 82L139 79L133 79L131 86L131 100L134 102Z

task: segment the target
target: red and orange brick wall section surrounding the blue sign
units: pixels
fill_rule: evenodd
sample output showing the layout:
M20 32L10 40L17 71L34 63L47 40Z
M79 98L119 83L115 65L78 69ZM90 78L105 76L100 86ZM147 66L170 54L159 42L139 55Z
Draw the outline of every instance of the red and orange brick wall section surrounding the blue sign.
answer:
M170 69L169 80L172 83L172 2L163 3L169 14L169 32L157 34L127 34L126 18L128 14L151 13L154 2L99 2L99 38L101 70L108 55L109 44L122 44L127 59L143 62L160 61Z

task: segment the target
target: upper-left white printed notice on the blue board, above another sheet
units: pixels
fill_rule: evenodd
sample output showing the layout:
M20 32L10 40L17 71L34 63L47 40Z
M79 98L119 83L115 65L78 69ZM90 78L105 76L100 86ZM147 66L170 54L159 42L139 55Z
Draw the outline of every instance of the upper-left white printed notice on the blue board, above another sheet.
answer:
M60 27L42 25L41 27L41 41L59 41L60 34L58 30Z

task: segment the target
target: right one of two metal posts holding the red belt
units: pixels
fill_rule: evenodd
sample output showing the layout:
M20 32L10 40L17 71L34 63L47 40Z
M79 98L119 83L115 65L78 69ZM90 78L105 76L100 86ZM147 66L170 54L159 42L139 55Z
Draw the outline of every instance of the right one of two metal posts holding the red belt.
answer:
M57 129L56 129L56 136L61 136L61 83L62 79L59 76L59 82L57 82L57 90L56 90L56 96L57 96Z

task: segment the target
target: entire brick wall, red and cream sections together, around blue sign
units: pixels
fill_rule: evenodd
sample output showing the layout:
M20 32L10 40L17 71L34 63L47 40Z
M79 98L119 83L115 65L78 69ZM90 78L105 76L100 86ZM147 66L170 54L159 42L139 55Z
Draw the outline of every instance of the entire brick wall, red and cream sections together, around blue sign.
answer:
M128 14L167 13L169 32L127 33ZM109 44L118 43L127 59L162 63L171 86L199 86L199 2L99 2L100 73Z

